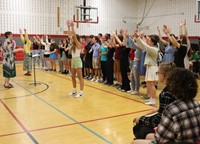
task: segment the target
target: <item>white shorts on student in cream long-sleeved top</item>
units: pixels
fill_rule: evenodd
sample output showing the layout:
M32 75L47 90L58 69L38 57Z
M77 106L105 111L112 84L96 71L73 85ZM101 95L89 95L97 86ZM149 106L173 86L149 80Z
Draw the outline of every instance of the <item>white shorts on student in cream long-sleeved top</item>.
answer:
M156 75L156 72L158 72L158 66L147 66L145 81L158 81L158 75Z

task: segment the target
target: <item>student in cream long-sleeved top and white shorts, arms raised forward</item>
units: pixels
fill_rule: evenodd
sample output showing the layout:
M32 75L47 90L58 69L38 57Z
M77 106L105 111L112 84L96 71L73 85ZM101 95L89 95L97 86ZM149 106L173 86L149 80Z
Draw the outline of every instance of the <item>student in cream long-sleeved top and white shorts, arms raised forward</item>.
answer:
M146 37L146 43L140 38L140 34L138 32L135 32L135 37L138 47L141 50L146 50L144 62L146 66L145 81L147 83L147 95L150 97L150 100L145 104L155 105L155 82L158 81L158 76L156 75L156 72L158 71L157 56L159 51L159 49L157 48L157 43L159 41L159 37L157 35L149 35Z

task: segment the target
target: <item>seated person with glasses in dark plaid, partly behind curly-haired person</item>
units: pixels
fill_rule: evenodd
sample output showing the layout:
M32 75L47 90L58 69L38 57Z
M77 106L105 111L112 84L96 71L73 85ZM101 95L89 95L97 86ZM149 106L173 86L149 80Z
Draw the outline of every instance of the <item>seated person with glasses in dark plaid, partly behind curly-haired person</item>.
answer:
M166 85L168 73L173 68L175 68L175 64L173 63L161 63L157 72L159 82ZM159 95L159 108L133 120L133 122L136 122L136 125L133 127L135 138L145 139L148 133L153 133L154 128L160 123L163 111L173 101L175 101L175 97L165 87Z

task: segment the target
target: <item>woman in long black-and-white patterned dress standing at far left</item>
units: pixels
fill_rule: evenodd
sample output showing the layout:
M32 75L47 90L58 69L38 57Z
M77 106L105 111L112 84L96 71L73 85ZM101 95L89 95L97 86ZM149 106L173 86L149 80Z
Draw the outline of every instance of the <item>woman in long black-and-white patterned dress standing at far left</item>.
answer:
M7 31L5 33L6 40L3 46L3 77L5 77L5 88L13 88L14 86L10 84L10 78L16 77L16 68L15 68L15 56L14 54L17 52L21 52L24 49L18 48L13 49L12 46L12 32Z

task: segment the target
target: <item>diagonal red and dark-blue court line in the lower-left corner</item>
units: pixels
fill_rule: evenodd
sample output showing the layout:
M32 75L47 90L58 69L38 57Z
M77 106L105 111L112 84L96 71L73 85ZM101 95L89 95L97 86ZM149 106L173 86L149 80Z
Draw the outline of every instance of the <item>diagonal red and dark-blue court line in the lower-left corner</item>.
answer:
M39 144L37 140L28 132L28 130L22 124L22 122L13 114L13 112L9 109L9 107L2 100L0 100L0 102L5 107L5 109L10 113L10 115L15 119L15 121L20 125L20 127L24 130L24 132L29 136L29 138L34 142L34 144Z

